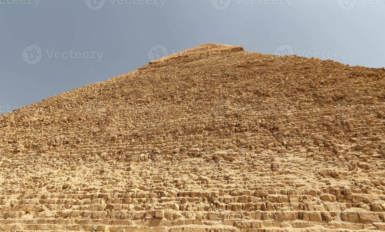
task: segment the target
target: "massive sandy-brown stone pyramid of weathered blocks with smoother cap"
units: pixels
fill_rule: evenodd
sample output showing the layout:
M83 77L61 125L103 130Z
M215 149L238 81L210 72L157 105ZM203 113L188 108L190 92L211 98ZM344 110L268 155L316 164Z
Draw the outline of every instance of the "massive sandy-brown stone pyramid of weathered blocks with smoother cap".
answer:
M0 231L385 231L385 70L208 43L0 116Z

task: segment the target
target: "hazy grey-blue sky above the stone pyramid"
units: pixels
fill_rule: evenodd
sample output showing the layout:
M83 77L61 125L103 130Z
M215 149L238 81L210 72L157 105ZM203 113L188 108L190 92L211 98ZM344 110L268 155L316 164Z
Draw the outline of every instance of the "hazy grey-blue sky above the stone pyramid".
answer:
M0 114L203 43L385 66L385 0L0 0Z

